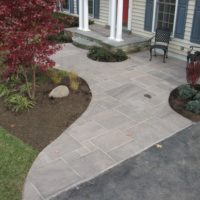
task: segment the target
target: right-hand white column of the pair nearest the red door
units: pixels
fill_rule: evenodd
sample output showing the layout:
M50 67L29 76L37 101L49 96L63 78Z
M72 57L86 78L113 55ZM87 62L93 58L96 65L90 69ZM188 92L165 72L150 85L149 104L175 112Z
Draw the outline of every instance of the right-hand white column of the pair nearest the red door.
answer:
M117 33L116 33L116 41L122 40L122 17L123 17L123 0L118 0L117 6Z

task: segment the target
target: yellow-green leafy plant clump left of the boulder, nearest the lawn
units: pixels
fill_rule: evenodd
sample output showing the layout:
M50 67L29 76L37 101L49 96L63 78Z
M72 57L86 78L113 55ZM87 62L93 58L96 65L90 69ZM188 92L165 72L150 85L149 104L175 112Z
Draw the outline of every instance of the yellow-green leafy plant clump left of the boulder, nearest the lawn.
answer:
M35 102L20 94L13 94L5 99L8 108L13 112L20 112L33 108Z

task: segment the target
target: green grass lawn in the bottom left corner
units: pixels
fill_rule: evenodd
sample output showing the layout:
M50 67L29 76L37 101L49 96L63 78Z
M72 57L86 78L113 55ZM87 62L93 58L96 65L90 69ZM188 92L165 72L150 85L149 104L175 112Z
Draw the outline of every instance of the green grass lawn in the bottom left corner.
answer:
M38 152L0 127L0 199L21 200L29 168Z

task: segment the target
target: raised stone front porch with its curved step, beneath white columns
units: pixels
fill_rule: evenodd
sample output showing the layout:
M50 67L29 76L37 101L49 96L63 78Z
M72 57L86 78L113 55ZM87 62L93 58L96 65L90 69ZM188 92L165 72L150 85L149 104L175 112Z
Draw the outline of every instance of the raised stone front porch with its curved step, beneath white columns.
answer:
M90 48L91 46L101 46L111 51L116 49L125 52L137 52L149 46L149 38L136 34L123 33L123 41L117 42L109 39L109 30L97 25L90 26L91 31L81 31L77 28L67 28L66 32L73 35L73 44L81 48Z

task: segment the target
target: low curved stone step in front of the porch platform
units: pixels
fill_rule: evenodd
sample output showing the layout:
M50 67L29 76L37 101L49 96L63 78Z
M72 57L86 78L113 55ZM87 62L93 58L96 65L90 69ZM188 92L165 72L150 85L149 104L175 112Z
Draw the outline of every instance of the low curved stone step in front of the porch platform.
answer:
M84 37L74 36L74 37L72 37L72 41L73 41L73 44L75 46L78 46L78 47L83 48L83 49L90 49L93 46L101 47L101 45L98 44L97 42L91 41L91 40L87 40Z

